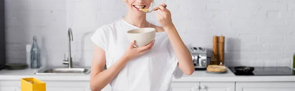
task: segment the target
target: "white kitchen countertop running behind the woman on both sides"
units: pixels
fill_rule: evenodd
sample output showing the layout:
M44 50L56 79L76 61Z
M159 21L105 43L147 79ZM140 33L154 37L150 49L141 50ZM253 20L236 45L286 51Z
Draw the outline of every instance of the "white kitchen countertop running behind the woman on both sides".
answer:
M90 74L82 75L40 75L34 74L38 69L0 70L0 80L20 80L21 78L34 77L43 81L89 81ZM90 69L90 68L89 68ZM227 73L207 73L197 70L192 75L183 75L180 79L173 77L173 82L295 82L294 76L236 76L230 69Z

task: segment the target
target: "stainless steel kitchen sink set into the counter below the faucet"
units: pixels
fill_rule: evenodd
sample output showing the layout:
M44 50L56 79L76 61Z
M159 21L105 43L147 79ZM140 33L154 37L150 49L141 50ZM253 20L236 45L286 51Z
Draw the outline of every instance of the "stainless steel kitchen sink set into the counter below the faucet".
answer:
M89 74L89 68L59 68L49 67L37 71L35 74Z

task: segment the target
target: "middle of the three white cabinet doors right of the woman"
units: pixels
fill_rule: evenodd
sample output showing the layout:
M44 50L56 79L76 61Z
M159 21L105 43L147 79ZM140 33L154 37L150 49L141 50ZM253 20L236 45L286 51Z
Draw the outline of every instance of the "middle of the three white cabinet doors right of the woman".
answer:
M235 82L200 82L200 91L235 91Z

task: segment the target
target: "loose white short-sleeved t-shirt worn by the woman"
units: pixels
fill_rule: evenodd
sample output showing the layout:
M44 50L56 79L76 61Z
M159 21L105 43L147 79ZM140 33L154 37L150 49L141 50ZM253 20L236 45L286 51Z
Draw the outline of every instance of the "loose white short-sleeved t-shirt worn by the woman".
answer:
M107 68L115 64L130 45L126 32L137 29L123 19L103 25L91 36L91 41L105 50ZM130 60L110 82L112 91L170 91L171 79L183 72L166 32L156 32L152 49Z

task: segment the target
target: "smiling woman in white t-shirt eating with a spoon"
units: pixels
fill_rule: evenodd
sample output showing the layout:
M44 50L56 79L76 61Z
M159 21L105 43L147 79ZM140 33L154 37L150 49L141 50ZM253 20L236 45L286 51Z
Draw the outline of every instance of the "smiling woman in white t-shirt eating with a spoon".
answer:
M174 75L194 72L192 57L172 23L171 13L159 5L156 18L162 27L146 21L140 8L153 5L153 0L122 0L127 16L98 28L90 38L95 44L91 64L91 91L100 91L110 83L112 91L169 91ZM165 3L163 3L164 5ZM126 31L142 27L156 29L155 40L134 47ZM107 69L104 69L105 64ZM179 67L179 68L178 68Z

